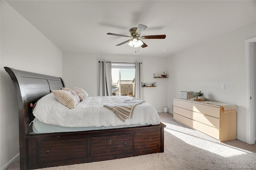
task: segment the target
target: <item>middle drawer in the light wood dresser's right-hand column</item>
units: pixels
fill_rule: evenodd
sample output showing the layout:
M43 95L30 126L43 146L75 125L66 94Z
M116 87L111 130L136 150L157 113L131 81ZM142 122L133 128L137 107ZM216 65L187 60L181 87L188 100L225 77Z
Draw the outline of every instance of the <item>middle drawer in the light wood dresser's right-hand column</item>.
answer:
M215 118L215 117L208 116L206 114L201 114L198 112L191 112L191 119L196 120L201 123L204 123L204 124L207 124L209 126L217 128L217 129L220 128L220 119L219 118Z

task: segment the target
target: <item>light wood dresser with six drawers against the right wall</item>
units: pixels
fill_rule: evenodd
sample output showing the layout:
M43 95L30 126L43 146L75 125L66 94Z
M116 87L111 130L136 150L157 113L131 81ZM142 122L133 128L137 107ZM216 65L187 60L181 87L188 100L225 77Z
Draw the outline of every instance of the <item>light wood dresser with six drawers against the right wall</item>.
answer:
M173 104L174 120L212 136L220 142L236 140L236 110L224 110L221 103L210 101L196 102L174 98Z

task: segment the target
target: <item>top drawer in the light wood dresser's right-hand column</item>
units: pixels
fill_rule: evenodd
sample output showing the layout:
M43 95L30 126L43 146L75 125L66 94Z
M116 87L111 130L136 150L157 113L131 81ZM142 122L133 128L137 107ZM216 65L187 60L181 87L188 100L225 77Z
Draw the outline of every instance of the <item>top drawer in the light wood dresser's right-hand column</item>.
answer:
M220 107L208 106L203 104L192 103L191 110L194 112L207 114L216 118L220 118Z

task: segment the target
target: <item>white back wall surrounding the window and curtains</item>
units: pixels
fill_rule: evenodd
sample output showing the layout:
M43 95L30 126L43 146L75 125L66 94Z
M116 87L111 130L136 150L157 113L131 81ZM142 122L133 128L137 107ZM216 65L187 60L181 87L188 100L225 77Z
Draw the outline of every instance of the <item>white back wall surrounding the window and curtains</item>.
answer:
M132 48L131 48L132 50ZM157 111L167 105L167 80L153 78L167 72L167 58L153 58L146 56L120 56L110 54L81 54L63 53L63 79L66 87L79 86L84 88L89 96L99 95L100 64L98 61L112 62L142 62L142 82L151 84L156 82L156 88L142 88L142 99L152 104Z

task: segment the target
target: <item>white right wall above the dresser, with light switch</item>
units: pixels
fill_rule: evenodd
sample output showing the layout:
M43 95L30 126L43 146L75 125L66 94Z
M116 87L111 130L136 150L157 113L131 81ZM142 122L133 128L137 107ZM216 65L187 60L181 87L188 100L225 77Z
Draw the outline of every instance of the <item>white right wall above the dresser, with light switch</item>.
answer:
M179 91L202 90L208 100L235 104L237 138L246 140L245 40L256 36L252 22L169 58L168 103ZM225 84L225 90L221 89Z

